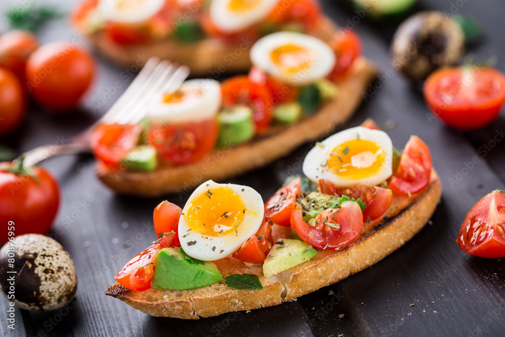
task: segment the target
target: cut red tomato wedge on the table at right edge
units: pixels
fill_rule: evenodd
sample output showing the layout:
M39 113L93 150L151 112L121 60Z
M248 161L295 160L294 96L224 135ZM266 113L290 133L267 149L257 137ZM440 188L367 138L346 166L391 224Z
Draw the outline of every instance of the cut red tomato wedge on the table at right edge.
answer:
M505 258L505 192L495 190L468 212L456 239L473 256Z

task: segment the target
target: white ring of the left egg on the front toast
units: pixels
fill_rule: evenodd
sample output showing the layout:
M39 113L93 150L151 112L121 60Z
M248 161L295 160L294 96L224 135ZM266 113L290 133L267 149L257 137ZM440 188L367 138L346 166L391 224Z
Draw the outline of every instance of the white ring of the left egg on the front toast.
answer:
M182 213L185 214L191 207L193 199L204 194L209 188L219 186L227 186L233 189L242 199L245 205L244 219L237 227L237 233L233 231L223 236L209 236L192 230L186 222L185 216L181 215L179 219L179 241L184 252L194 259L215 261L234 253L249 237L256 234L262 224L265 206L256 190L236 184L219 184L212 180L204 182L194 190ZM196 241L196 244L188 246L190 241ZM212 250L213 247L216 248Z

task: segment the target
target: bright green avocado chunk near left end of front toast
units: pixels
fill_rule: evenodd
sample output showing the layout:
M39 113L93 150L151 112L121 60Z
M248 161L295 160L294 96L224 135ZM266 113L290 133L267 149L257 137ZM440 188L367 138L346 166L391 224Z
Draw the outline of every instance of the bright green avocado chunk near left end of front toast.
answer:
M164 248L156 258L151 287L186 290L211 285L222 279L214 263L193 264L180 253L179 248Z

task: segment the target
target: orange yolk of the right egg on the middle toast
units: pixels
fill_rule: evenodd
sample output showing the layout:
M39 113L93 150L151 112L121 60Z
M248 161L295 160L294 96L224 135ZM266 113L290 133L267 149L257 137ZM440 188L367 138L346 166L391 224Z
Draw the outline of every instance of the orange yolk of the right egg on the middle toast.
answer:
M307 70L311 66L311 52L296 44L285 44L274 49L270 57L284 72L293 74Z

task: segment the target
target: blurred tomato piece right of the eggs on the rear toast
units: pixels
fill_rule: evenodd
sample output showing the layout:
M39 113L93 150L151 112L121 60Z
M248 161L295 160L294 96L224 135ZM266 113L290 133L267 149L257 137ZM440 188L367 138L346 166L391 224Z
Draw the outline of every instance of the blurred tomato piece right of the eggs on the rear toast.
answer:
M314 27L321 17L321 7L315 0L279 1L268 21L276 24L300 23L306 29Z

